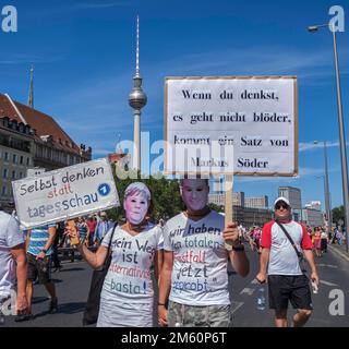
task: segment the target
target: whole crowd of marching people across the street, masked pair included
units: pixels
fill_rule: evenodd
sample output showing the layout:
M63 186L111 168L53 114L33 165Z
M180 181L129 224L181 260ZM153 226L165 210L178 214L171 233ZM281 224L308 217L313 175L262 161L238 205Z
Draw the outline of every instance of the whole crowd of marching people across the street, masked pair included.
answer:
M232 221L226 225L225 217L209 208L208 192L207 180L182 179L180 193L186 209L158 224L149 219L152 193L142 182L125 190L123 224L101 212L23 234L16 219L1 212L0 305L15 288L16 321L33 318L33 284L38 281L49 294L49 312L55 313L58 296L50 277L51 263L60 269L57 251L70 248L94 269L109 261L97 326L152 326L156 302L160 326L228 327L232 314L227 266L230 263L238 277L249 275L248 243L260 254L256 279L267 281L275 325L288 325L290 302L297 311L292 325L303 326L312 314L310 281L318 285L314 255L326 252L327 243L342 243L344 236L339 230L327 236L321 227L309 230L292 220L285 197L275 201L275 219L263 228L244 229ZM310 278L300 255L308 261Z

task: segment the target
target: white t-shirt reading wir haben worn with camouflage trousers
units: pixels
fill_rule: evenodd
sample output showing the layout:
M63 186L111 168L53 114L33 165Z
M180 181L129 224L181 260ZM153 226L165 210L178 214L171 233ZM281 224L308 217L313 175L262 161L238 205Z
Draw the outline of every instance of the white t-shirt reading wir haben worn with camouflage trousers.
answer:
M165 225L164 250L173 252L171 301L230 304L224 227L224 216L215 210L197 221L181 213Z

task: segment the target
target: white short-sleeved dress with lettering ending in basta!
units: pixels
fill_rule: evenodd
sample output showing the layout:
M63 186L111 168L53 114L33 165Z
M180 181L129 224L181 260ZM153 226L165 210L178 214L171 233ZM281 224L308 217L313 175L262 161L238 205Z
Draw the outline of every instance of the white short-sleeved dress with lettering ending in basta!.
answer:
M106 248L112 230L113 228L107 232L101 242ZM99 316L122 322L115 313L120 304L136 303L140 306L141 304L153 306L152 269L155 253L163 249L163 229L157 226L148 225L137 236L131 236L121 227L116 228L111 242L112 261L100 294L100 302L104 302L101 309L107 310L107 313L99 313Z

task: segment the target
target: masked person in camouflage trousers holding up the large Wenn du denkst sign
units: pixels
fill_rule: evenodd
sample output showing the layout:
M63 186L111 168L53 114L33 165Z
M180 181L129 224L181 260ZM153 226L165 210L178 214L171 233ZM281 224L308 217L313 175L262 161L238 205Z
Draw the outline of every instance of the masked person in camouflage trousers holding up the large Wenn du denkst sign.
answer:
M159 324L231 326L228 256L239 275L249 274L249 260L238 239L238 226L229 224L225 229L224 216L209 209L207 180L183 179L180 191L186 210L164 227ZM232 251L226 250L225 242L232 245Z

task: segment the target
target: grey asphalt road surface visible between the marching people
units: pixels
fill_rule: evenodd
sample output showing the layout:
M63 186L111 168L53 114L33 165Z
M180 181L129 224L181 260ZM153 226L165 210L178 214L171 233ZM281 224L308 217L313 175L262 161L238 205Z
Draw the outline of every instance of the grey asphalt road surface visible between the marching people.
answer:
M257 289L261 287L254 280L257 273L258 256L248 252L251 273L246 278L237 276L231 269L229 287L236 327L268 327L274 326L273 312L268 309L256 309ZM306 324L313 327L348 327L349 326L349 262L329 251L316 258L321 276L321 287L313 294L314 312ZM80 327L82 314L87 299L92 270L85 262L67 262L60 273L52 274L57 287L59 309L56 314L48 314L49 299L40 285L34 287L33 311L35 318L28 322L15 323L12 316L7 317L5 327ZM345 294L345 315L330 315L329 306L334 299L329 292L340 290ZM338 291L336 291L338 292ZM336 301L336 300L335 300ZM289 311L289 317L294 313Z

